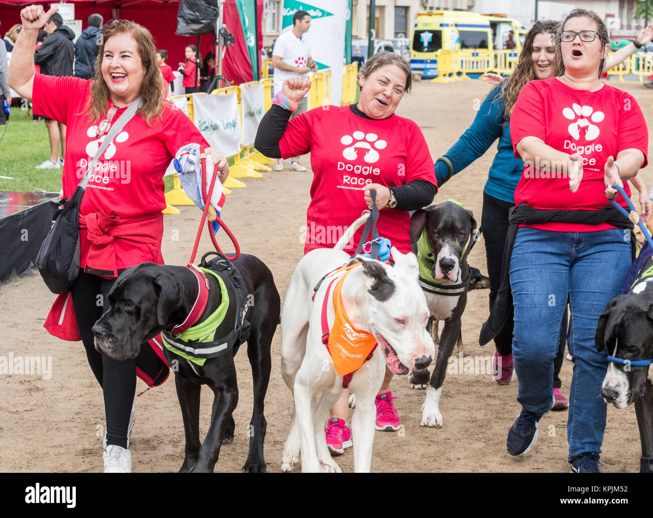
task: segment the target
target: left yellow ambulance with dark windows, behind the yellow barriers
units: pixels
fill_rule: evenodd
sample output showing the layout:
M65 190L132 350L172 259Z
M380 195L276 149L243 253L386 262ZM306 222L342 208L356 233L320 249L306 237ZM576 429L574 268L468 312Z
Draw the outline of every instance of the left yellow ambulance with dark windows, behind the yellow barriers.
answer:
M492 50L490 20L478 12L420 11L413 25L411 69L422 77L438 75L436 52L460 49Z

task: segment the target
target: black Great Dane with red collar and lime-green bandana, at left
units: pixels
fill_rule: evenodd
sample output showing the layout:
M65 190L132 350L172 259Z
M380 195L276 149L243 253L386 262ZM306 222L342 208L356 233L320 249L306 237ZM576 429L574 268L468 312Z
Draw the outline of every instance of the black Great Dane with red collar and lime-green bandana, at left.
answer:
M224 260L222 262L222 266L227 264ZM215 349L226 350L228 354L218 353L219 356L206 358L199 365L168 348L163 349L175 371L177 395L182 407L185 459L180 472L213 472L221 444L229 443L234 438L232 413L238 403L234 356L240 343L236 340L227 347L227 340L221 344L219 340L231 336L234 324L235 328L239 328L240 324L241 328L248 328L247 356L254 381L249 455L243 471L264 472L266 469L263 458L266 432L263 407L270 380L270 344L279 323L281 303L272 272L261 260L241 254L233 266L240 272L247 291L247 303L241 304L243 309L239 309L236 303L237 299L242 301L242 296L237 297L234 283L220 283L214 275L206 273L206 307L204 311L197 310L199 293L204 292L203 287L200 290L201 275L189 267L143 263L127 269L118 277L108 295L110 309L93 326L95 348L110 358L123 360L138 356L140 345L161 331L178 329L176 326L183 324L192 312L195 312L192 320L201 314L197 322L202 324L221 309L224 317L212 336L219 344ZM229 273L233 273L233 268ZM221 304L221 289L226 289L229 303L224 297L225 303ZM241 335L241 338L246 337ZM214 392L214 403L208 433L200 444L200 389L204 384Z

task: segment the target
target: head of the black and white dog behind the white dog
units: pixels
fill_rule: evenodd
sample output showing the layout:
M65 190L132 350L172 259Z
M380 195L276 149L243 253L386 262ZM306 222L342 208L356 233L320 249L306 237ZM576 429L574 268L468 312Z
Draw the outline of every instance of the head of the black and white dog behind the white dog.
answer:
M473 213L453 202L415 211L410 222L410 239L416 254L424 226L433 256L422 260L431 268L431 275L436 281L460 281L460 267L466 256L463 251L467 246L468 253L477 238Z

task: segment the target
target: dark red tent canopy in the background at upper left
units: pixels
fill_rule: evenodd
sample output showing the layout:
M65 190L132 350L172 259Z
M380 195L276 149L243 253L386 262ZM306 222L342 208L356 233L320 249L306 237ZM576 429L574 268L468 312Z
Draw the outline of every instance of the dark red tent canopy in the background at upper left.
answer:
M5 33L15 23L20 23L20 10L27 5L42 5L45 10L50 8L53 2L25 2L22 0L0 0L0 34ZM154 44L159 49L168 51L168 65L173 70L177 69L180 61L185 61L184 49L187 45L197 44L197 37L178 36L174 33L177 29L177 10L179 0L72 0L69 3L75 5L75 19L82 20L82 28L86 29L88 17L91 14L101 14L104 22L112 18L131 20L143 25L152 34ZM259 27L259 49L263 46L263 31L261 22L263 20L263 0L257 0L258 5L258 27ZM227 48L225 61L223 62L223 75L234 84L240 84L253 80L251 63L247 55L245 38L240 25L236 0L227 0L224 4L223 23L227 30L234 34L236 42ZM200 37L200 54L202 57L208 52L215 53L215 46L212 42L213 35L202 35ZM259 51L260 54L260 51Z

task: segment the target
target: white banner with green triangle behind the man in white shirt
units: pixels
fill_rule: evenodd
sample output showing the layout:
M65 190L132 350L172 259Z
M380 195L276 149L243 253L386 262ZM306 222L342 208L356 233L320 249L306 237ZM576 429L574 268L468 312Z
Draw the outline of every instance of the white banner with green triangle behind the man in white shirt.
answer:
M311 44L318 71L331 69L331 98L328 104L340 106L342 100L342 64L345 57L345 25L349 0L283 0L281 33L293 28L293 14L304 10L311 15L306 36Z

